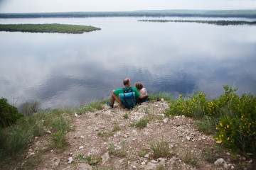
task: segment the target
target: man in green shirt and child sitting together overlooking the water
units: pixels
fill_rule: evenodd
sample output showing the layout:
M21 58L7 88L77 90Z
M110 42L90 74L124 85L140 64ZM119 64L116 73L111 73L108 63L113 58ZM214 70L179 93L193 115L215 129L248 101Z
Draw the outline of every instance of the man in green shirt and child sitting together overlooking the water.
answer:
M138 98L139 102L146 101L146 98L148 97L148 94L146 93L146 89L143 88L142 83L137 82L135 84L135 87L130 87L131 86L131 81L129 78L124 79L124 88L122 89L116 89L112 91L112 95L110 96L110 101L107 101L107 105L110 106L111 108L114 107L114 101L117 101L119 105L122 108L127 108L125 105L125 100L124 98L120 98L119 94L124 94L126 91L132 91L135 94L135 98ZM142 89L143 88L143 89Z

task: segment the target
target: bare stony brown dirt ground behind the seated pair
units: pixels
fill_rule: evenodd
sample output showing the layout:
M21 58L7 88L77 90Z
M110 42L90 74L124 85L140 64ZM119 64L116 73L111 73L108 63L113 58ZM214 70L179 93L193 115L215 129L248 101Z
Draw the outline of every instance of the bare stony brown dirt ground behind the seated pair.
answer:
M207 162L203 149L213 151L213 135L198 131L192 118L164 117L166 101L142 103L130 111L118 104L114 108L104 107L102 111L74 115L75 130L66 135L70 146L61 151L48 149L47 140L36 137L26 157L34 157L39 149L43 154L33 169L253 169L255 165L254 160L228 151L222 155L224 164ZM124 118L126 113L128 118ZM145 116L150 119L145 128L131 126ZM150 144L157 146L162 142L171 154L155 158ZM82 159L87 157L91 157L92 164Z

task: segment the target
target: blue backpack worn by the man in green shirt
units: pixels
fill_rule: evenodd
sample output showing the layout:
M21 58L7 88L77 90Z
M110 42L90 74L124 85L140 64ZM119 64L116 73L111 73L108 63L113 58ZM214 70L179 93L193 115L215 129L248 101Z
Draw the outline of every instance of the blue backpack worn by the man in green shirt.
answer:
M124 93L119 94L120 98L124 98L124 100L122 101L122 104L127 109L134 108L134 106L136 105L135 92L132 90L131 87L129 87L129 89L123 88L122 90Z

